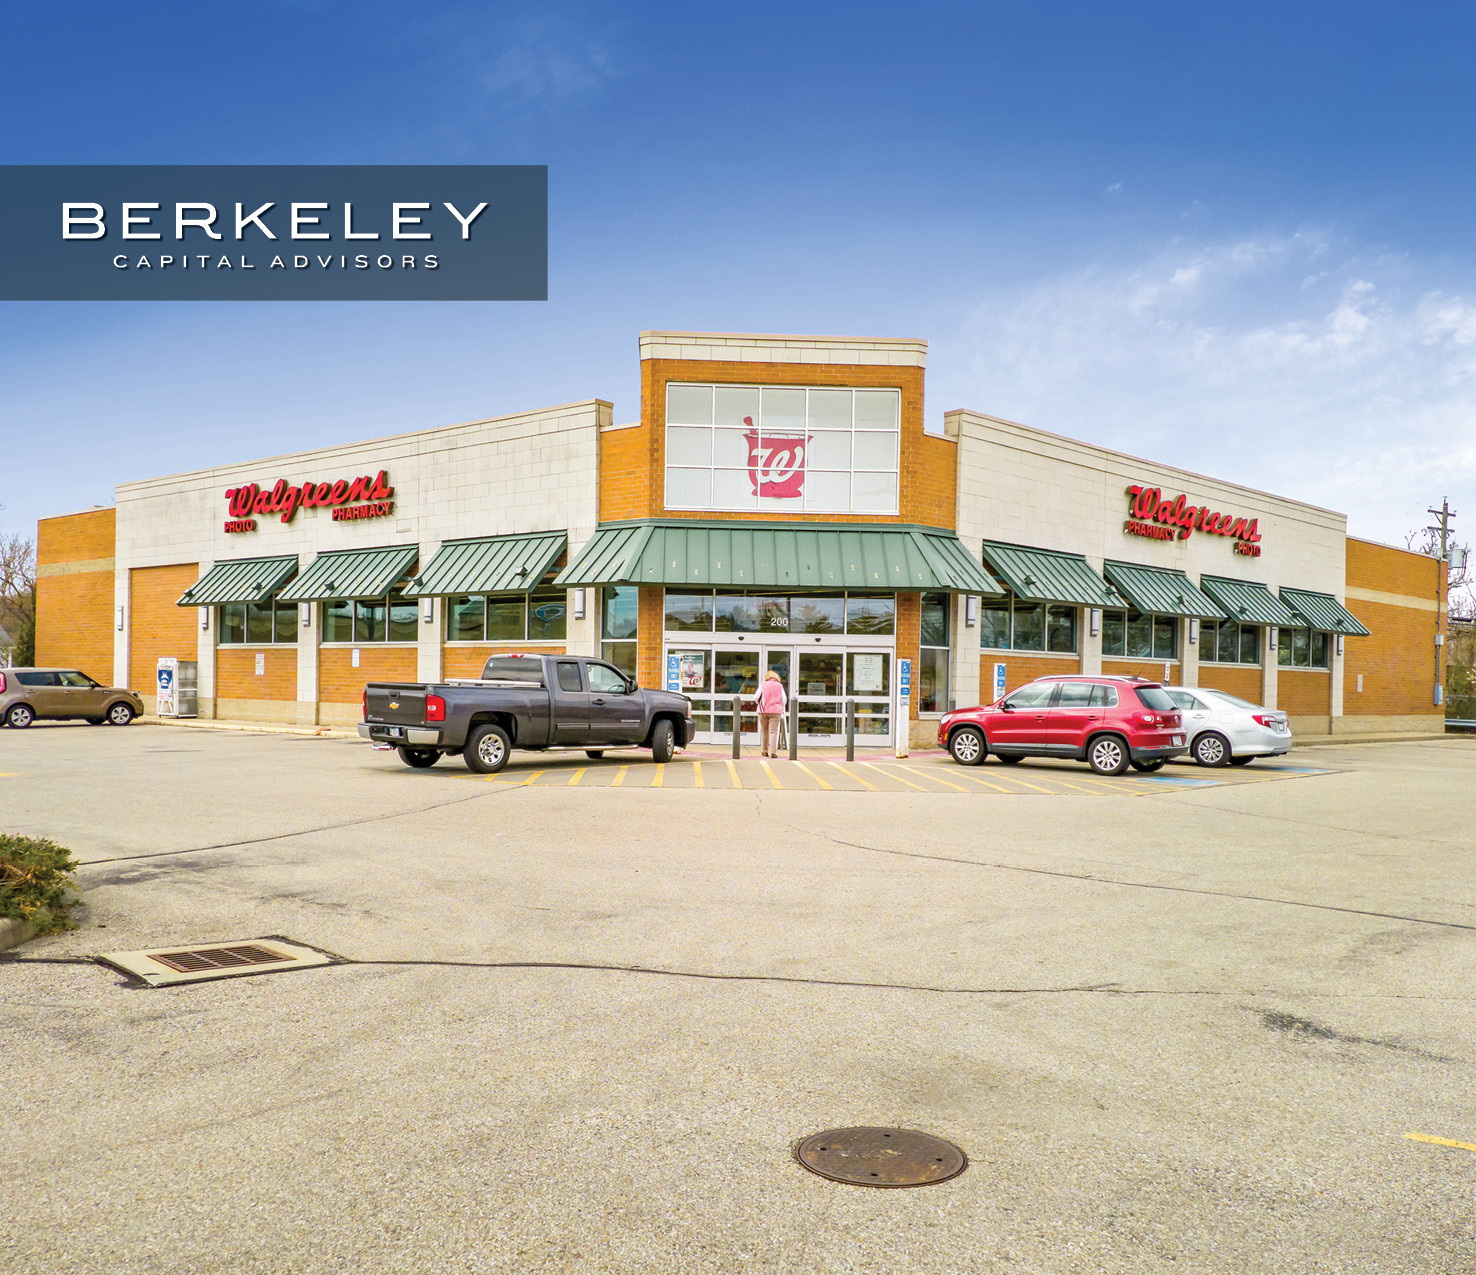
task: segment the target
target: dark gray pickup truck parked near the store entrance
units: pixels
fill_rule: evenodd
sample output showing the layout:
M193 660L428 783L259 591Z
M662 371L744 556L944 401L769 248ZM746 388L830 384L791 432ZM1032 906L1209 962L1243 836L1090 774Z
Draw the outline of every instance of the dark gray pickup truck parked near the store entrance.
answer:
M514 748L649 748L670 761L692 738L692 701L642 691L613 664L579 655L493 655L481 677L370 682L359 733L424 769L461 753L481 775Z

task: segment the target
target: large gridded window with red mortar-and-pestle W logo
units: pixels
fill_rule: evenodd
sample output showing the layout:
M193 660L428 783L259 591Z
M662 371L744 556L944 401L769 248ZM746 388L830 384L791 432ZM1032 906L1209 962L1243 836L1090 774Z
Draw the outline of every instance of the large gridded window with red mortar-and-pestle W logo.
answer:
M666 390L666 508L897 512L897 390Z

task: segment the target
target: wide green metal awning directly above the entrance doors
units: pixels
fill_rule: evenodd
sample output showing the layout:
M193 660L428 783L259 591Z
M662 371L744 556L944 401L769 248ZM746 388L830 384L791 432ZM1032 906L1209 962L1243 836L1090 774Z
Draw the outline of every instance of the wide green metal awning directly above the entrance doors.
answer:
M952 531L813 522L607 522L555 584L999 593Z

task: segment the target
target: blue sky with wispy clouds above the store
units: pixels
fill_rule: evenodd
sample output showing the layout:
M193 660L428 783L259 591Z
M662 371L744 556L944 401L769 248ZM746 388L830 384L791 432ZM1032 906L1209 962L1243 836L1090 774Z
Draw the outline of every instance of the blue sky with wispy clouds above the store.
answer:
M0 530L632 419L645 328L922 336L934 421L1476 530L1473 46L1455 6L9 6L0 162L548 164L551 300L0 303Z

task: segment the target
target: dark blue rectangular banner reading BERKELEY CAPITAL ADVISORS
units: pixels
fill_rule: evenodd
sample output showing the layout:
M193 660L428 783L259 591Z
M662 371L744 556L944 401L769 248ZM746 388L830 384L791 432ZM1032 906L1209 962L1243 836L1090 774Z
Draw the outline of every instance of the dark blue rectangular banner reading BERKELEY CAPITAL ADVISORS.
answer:
M0 300L543 301L548 168L0 168Z

